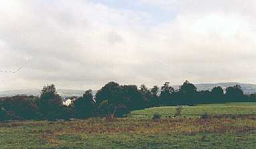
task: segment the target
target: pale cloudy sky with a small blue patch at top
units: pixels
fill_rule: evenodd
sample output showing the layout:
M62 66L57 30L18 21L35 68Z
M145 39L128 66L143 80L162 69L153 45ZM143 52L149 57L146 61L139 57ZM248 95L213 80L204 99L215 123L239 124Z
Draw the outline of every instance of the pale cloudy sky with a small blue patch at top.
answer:
M0 90L256 84L255 17L254 0L1 1Z

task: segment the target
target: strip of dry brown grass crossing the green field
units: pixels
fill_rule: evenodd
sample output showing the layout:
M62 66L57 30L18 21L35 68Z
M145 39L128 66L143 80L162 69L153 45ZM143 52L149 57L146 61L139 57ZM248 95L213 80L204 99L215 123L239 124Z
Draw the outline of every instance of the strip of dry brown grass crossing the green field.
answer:
M256 121L251 118L89 118L65 122L5 122L0 128L25 128L29 134L40 134L48 144L61 144L58 136L75 134L225 134L256 133ZM243 138L241 138L243 139ZM207 140L202 136L201 140Z

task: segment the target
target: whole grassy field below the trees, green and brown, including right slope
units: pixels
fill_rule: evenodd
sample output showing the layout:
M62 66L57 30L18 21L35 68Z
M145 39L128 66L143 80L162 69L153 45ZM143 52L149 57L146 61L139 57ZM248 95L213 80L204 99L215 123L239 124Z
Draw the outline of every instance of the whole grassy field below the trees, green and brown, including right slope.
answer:
M230 110L233 106L237 110ZM211 110L210 114L254 114L255 106L256 104L200 105L200 108L188 107L182 111L192 118L162 118L158 121L149 118L155 112L149 112L150 110L157 109L157 112L163 111L164 114L173 108L139 110L131 112L129 118L1 122L0 148L255 148L255 118L194 117L203 113L204 108L212 107L215 107L215 111ZM138 112L145 114L145 111L145 118L133 115Z

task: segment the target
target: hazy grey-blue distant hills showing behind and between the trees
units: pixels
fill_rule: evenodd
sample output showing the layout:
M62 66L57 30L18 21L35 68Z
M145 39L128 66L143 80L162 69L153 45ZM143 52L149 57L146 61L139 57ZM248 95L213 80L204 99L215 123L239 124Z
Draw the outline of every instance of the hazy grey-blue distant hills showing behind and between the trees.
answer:
M218 84L195 84L198 91L200 90L212 90L215 86L221 86L223 89L229 86L235 85L241 86L245 94L251 94L256 92L255 84L241 84L237 82L228 82L228 83L218 83ZM180 86L173 86L175 90L178 90ZM15 95L33 95L39 96L41 90L39 89L31 89L31 90L9 90L9 91L0 91L0 97L3 96L15 96ZM57 90L58 94L62 96L62 98L70 97L70 96L82 96L84 94L84 90ZM92 91L93 94L96 94L97 91Z

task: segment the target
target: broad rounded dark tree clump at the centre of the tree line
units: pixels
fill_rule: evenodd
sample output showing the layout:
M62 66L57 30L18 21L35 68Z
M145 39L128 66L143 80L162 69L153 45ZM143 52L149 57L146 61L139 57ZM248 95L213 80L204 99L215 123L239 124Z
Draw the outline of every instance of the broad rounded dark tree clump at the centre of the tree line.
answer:
M96 102L100 116L104 116L103 110L108 114L123 116L131 110L147 108L147 89L138 90L137 86L119 86L115 82L109 82L96 94Z

